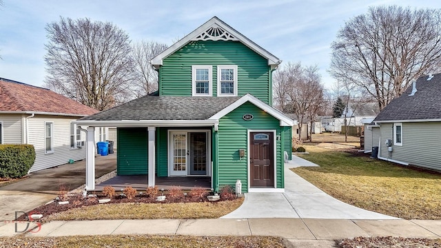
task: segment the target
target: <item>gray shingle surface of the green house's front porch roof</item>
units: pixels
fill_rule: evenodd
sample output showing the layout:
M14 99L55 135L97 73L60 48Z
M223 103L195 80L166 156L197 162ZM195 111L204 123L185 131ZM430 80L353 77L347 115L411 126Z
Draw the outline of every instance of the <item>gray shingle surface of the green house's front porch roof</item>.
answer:
M79 121L206 120L238 99L238 96L147 95Z

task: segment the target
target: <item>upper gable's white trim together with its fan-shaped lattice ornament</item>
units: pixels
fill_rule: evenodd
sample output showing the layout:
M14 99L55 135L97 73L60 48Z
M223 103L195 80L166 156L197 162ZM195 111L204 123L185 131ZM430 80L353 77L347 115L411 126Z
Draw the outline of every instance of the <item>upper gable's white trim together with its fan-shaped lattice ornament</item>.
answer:
M181 39L180 41L174 43L170 48L167 48L161 54L154 57L152 59L152 65L158 69L160 65L163 65L163 59L167 58L177 50L183 48L184 45L187 45L190 41L240 41L244 45L246 45L249 49L253 50L263 56L268 60L268 65L272 65L274 68L281 63L280 59L278 59L273 54L269 53L267 50L261 48L259 45L248 39L247 37L240 34L234 30L234 28L227 25L217 17L213 17L209 19L206 23L201 25L199 28L196 28L193 32L189 33L186 37Z

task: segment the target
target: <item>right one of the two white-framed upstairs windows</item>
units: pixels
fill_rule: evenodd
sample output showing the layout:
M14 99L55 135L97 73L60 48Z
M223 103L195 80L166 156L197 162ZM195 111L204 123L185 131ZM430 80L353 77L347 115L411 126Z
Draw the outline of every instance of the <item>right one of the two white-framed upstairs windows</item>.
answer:
M218 65L218 96L237 96L237 65Z

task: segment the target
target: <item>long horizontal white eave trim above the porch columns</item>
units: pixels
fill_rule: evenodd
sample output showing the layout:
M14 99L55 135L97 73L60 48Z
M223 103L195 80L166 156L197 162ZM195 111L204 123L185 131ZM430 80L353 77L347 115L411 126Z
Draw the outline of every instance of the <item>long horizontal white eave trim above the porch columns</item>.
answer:
M140 120L140 121L72 121L76 125L90 127L207 127L214 126L217 120Z

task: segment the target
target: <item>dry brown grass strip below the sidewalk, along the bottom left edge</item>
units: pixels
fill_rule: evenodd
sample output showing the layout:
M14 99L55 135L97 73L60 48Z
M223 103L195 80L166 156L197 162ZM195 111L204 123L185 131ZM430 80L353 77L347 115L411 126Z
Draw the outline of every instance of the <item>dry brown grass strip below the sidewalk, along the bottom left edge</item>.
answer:
M282 248L282 238L267 236L69 236L0 238L0 247L274 247Z

